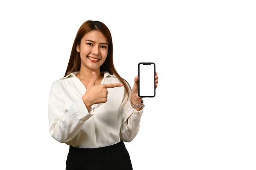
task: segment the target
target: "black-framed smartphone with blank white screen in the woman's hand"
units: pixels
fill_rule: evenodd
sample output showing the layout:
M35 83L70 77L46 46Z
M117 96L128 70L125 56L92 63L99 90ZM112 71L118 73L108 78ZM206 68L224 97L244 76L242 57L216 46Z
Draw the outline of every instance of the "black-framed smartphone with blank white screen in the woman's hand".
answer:
M140 62L138 76L139 97L155 97L155 63Z

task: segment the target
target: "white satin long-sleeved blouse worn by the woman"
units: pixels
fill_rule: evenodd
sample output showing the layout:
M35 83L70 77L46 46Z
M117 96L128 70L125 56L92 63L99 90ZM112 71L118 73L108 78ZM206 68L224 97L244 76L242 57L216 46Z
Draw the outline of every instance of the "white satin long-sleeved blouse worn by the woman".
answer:
M54 139L77 148L99 148L130 142L139 131L144 109L135 110L126 102L124 86L108 88L108 101L87 110L82 96L86 88L78 72L53 82L48 105L49 133ZM101 84L120 83L104 72Z

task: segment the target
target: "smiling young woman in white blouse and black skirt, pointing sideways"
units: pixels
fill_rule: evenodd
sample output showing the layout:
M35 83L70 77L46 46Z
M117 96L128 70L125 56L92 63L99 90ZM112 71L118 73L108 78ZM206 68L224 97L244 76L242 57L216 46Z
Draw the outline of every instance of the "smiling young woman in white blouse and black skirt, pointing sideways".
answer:
M70 146L66 170L132 170L123 141L137 135L144 104L115 70L109 29L88 20L79 28L65 76L49 95L49 133ZM155 75L157 87L158 77Z

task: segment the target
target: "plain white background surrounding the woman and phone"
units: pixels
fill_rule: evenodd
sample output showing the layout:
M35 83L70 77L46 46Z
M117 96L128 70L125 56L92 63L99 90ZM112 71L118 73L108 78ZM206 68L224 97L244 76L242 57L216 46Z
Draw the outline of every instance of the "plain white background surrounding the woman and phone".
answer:
M48 133L49 90L90 19L110 29L115 67L130 84L139 62L159 74L126 143L134 170L255 170L254 2L2 0L1 169L65 169L68 146Z

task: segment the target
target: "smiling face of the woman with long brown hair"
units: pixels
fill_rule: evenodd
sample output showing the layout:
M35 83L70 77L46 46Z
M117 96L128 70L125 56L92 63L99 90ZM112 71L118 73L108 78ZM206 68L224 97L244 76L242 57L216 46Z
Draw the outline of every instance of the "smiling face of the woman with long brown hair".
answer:
M100 31L91 31L84 35L76 51L80 53L80 70L96 71L108 55L108 40Z

